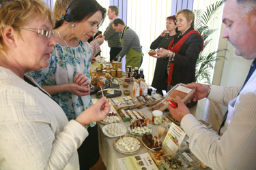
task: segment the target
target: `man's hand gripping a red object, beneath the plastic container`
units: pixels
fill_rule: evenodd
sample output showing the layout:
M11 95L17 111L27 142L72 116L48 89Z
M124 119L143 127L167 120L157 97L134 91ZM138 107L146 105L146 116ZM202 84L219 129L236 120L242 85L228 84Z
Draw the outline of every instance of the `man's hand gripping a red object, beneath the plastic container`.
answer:
M168 105L168 109L173 116L173 118L179 122L182 121L182 118L187 114L190 114L188 107L184 105L180 97L176 97L177 108L172 107L170 104Z

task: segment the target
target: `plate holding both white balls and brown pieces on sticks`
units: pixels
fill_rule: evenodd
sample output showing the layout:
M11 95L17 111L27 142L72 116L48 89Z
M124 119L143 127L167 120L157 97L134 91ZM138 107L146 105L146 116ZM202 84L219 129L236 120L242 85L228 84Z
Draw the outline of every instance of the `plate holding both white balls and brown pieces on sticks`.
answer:
M128 126L128 131L131 135L142 136L143 134L151 134L152 126L146 122L137 120Z

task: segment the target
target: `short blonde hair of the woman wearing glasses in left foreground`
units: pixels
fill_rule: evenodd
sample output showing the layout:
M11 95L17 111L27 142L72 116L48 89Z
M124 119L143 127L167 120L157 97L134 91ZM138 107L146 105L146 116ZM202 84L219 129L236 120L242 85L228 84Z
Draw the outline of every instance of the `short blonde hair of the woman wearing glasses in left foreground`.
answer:
M0 50L3 48L1 29L6 25L12 26L20 35L20 29L33 16L40 16L55 25L52 10L42 0L3 0L0 3ZM36 20L35 20L36 22Z

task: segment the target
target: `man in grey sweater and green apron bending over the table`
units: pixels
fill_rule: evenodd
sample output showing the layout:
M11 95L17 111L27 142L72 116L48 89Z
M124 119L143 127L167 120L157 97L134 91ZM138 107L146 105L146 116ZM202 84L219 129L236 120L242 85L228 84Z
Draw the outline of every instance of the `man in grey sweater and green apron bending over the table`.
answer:
M130 65L132 69L134 69L134 67L138 67L139 69L142 63L142 50L139 36L119 18L113 21L112 27L115 32L121 34L120 42L123 46L121 52L115 56L113 61L117 61L119 56L123 58L126 55L126 67Z

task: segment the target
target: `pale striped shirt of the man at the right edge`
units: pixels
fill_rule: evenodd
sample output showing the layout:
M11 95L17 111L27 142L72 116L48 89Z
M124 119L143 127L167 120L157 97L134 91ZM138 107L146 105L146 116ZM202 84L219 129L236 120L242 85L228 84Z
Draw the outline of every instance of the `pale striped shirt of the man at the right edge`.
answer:
M222 136L199 124L192 114L182 118L190 150L212 169L256 168L256 71L240 88L212 86L208 99L229 106ZM240 94L238 95L238 93ZM238 96L237 96L238 95ZM232 103L235 104L232 107Z

